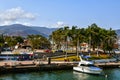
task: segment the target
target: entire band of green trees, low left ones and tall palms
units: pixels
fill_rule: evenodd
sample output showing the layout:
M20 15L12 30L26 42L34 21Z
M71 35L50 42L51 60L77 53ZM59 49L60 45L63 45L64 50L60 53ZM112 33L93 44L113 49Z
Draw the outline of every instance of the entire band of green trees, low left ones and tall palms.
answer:
M111 28L109 30L98 27L96 24L92 24L87 28L78 28L77 26L65 26L52 32L49 37L50 40L42 35L28 35L26 38L21 36L5 36L0 35L0 47L6 43L9 47L15 46L17 43L24 44L24 40L27 40L28 45L32 49L51 48L53 46L56 49L68 49L68 47L76 47L80 43L89 43L89 48L95 50L95 48L101 48L104 51L111 51L114 48L114 44L117 39L117 34ZM52 46L50 41L52 41Z

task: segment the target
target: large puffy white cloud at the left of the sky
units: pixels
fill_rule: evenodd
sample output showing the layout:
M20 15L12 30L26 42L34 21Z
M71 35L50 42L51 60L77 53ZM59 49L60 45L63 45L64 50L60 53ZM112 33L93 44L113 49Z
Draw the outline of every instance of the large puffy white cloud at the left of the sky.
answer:
M34 20L35 15L24 11L21 7L11 8L0 12L0 25L8 25L19 20Z

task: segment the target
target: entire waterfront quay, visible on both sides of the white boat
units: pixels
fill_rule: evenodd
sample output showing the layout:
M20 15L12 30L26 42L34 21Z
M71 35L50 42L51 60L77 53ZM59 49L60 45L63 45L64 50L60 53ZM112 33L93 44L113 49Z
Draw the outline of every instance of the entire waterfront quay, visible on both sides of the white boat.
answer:
M73 67L79 61L1 61L0 73L20 73L20 72L39 72L39 71L54 71L54 70L73 70ZM118 68L120 62L105 62L95 63L96 66L101 68Z

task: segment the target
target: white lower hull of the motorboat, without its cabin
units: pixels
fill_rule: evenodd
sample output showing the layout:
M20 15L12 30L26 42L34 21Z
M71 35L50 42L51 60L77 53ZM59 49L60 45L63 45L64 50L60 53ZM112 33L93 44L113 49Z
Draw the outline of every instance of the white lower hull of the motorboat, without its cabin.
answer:
M100 68L97 69L90 69L88 67L73 67L74 71L77 72L83 72L83 73L88 73L88 74L101 74L102 70Z

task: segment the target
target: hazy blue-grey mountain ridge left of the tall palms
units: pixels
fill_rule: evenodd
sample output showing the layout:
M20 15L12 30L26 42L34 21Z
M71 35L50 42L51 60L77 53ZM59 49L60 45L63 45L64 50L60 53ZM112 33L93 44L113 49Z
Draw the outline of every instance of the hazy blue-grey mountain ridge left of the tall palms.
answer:
M0 26L0 34L9 35L9 36L24 36L24 37L31 34L40 34L43 35L44 37L49 37L49 35L56 29L57 28L12 24L12 25Z

